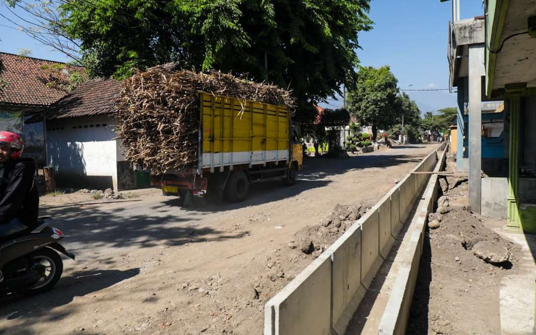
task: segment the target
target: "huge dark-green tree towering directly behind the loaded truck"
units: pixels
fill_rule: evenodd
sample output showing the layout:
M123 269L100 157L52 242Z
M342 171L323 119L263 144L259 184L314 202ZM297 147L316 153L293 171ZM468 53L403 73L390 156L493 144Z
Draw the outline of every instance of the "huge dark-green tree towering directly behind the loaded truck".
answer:
M19 1L9 0L13 6ZM71 57L77 51L90 77L122 79L133 69L168 62L233 72L290 88L297 119L311 122L313 103L341 94L339 87L356 79L358 34L373 24L369 2L49 0L46 10L30 11L49 27L37 38L61 36L67 42L56 49ZM57 16L49 14L50 3L57 3Z

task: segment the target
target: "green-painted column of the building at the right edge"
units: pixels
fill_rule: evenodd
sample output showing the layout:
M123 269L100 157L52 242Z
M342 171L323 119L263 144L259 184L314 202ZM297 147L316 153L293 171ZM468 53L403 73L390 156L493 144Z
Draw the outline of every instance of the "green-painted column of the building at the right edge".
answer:
M516 96L508 99L510 114L510 138L508 157L508 221L507 226L511 229L521 229L519 217L518 194L519 194L519 133L521 98Z

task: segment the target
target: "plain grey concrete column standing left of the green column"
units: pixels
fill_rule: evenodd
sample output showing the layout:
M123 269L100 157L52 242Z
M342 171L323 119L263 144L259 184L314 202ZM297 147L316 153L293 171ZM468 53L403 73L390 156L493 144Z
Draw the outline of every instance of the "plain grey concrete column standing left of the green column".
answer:
M482 44L469 46L469 207L480 214L481 204L481 148L482 148L482 75L484 48Z

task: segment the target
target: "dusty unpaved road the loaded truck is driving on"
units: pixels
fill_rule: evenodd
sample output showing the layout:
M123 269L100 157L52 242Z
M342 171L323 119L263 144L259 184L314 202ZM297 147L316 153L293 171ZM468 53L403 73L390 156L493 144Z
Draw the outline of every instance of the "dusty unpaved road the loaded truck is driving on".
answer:
M254 185L240 204L42 197L77 261L54 292L0 300L0 333L261 333L265 302L311 262L294 233L337 204L373 205L436 146L308 159L293 187Z

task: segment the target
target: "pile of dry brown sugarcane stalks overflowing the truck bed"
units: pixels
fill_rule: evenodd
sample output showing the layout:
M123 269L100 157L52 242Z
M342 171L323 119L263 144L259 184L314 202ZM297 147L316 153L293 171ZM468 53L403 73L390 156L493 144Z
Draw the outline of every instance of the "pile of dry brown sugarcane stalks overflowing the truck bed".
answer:
M117 135L126 159L153 174L196 166L199 150L197 92L292 107L288 91L227 73L174 71L166 65L138 72L123 83L117 101Z

